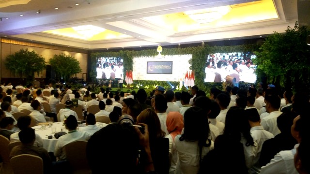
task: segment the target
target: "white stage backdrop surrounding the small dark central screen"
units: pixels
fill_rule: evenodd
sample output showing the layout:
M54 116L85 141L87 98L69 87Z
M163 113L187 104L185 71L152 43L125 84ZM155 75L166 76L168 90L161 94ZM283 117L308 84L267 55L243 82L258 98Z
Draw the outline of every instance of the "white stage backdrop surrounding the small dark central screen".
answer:
M133 58L134 80L156 80L156 81L180 81L180 78L185 77L186 70L189 70L188 60L192 55L173 55L162 56L161 58L154 57L139 57ZM147 62L162 62L172 61L172 74L153 74L147 73Z

